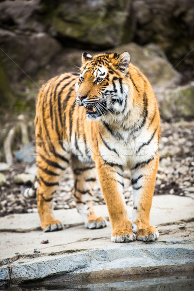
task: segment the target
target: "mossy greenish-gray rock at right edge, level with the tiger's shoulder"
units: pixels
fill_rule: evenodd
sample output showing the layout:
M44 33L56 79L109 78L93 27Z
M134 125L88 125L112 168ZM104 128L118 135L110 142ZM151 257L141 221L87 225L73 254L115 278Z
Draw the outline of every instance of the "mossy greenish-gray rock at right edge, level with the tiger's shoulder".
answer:
M166 90L161 102L162 118L194 117L194 82Z

